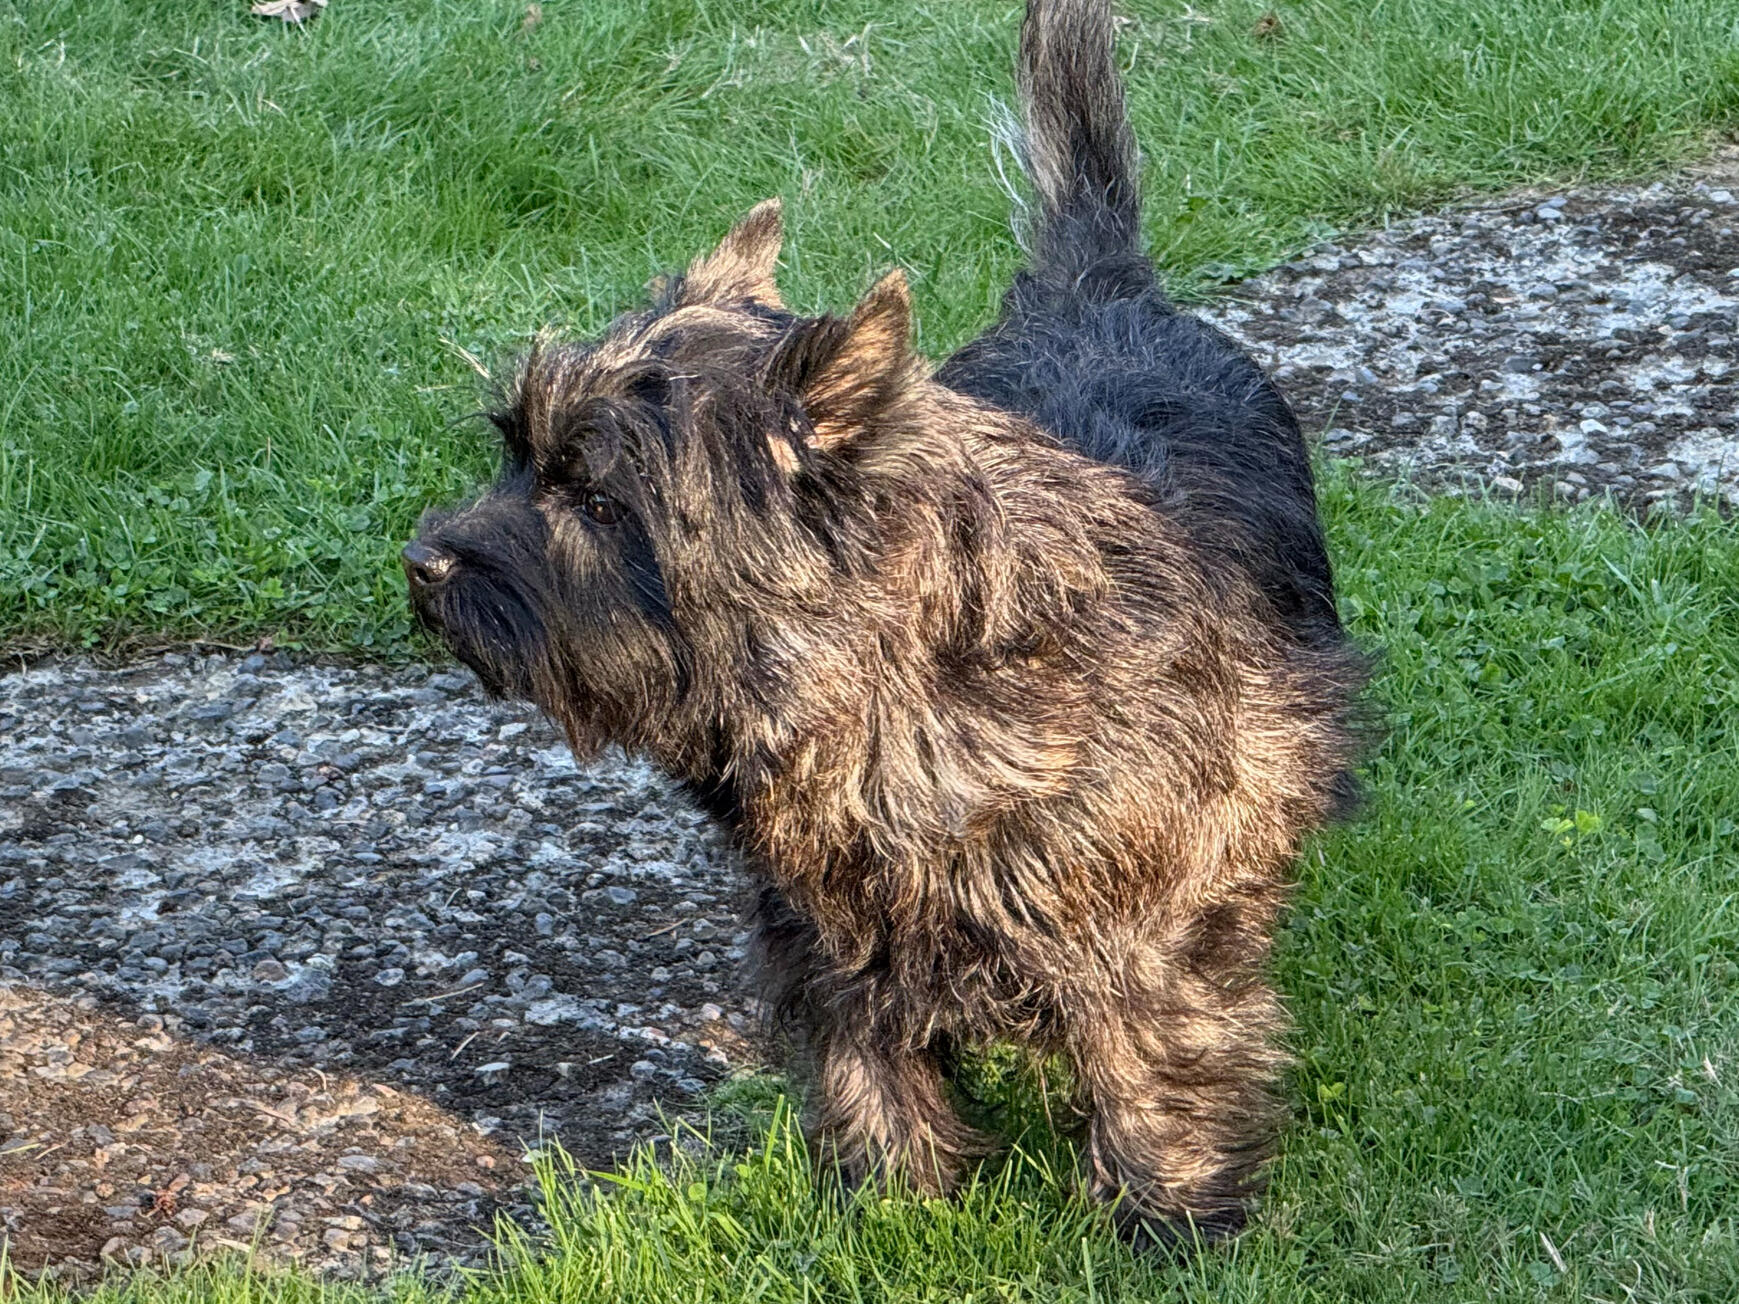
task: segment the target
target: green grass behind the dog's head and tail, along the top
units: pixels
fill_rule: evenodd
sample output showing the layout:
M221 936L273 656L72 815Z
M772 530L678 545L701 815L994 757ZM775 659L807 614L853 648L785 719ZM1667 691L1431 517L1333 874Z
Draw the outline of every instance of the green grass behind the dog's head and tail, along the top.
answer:
M1734 0L1125 5L1184 289L1330 228L1650 170L1739 122ZM1007 0L0 0L0 645L395 649L417 511L487 469L476 377L600 327L753 202L784 282L915 280L927 348L1014 263Z

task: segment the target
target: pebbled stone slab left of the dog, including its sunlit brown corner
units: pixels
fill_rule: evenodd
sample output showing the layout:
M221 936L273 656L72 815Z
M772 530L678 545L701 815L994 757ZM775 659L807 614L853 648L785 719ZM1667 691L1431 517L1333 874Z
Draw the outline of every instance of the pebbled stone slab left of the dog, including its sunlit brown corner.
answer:
M395 1163L337 1168L336 1200L330 1146L278 1146L245 1191L188 1181L174 1127L200 1095L172 1083L195 1048L240 1087L384 1083L468 1137L518 1154L553 1134L591 1165L756 1062L718 835L643 765L577 768L468 673L35 666L0 678L0 1219L23 1267L56 1257L42 1226L70 1259L183 1248L153 1212L177 1177L181 1214L233 1238L270 1205L270 1248L322 1266L428 1248L442 1212L475 1245L482 1189L431 1201L421 1233L356 1203L430 1184L400 1163L421 1116L339 1137ZM143 1085L115 1085L117 1050ZM139 1113L157 1127L123 1127ZM231 1174L259 1158L231 1151Z

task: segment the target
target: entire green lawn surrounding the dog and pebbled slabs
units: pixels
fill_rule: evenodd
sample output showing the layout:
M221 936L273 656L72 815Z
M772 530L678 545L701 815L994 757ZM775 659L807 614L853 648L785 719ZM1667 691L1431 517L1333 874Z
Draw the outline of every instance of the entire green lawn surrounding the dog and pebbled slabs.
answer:
M1730 0L1320 0L1261 37L1261 3L1123 9L1149 238L1191 294L1739 122ZM793 303L897 263L932 351L988 318L1014 5L541 12L332 0L294 31L240 0L0 0L0 640L414 652L396 541L489 462L464 355L602 325L770 193ZM602 1196L546 1167L551 1241L461 1294L1739 1299L1739 529L1343 464L1323 499L1388 732L1282 935L1294 1123L1250 1234L1137 1262L1042 1130L960 1203L838 1210L750 1083L720 1101L746 1144L642 1156ZM224 1269L110 1292L363 1294Z

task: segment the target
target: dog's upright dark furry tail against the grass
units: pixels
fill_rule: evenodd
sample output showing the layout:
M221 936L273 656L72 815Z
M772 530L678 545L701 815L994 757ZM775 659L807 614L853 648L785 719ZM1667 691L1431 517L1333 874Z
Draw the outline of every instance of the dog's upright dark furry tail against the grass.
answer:
M1023 156L1038 198L1033 273L1076 294L1146 289L1153 264L1141 250L1136 134L1109 0L1028 0L1019 83Z

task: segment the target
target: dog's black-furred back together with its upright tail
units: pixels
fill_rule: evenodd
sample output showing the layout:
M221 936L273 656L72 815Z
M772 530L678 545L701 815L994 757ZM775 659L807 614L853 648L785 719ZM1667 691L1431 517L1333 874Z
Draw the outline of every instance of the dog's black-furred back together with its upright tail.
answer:
M1167 301L1143 250L1108 0L1031 0L1019 78L1029 266L996 325L937 379L1127 468L1299 636L1337 640L1297 421L1236 344Z

